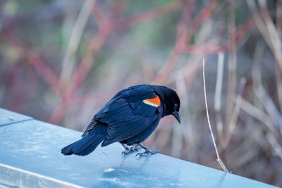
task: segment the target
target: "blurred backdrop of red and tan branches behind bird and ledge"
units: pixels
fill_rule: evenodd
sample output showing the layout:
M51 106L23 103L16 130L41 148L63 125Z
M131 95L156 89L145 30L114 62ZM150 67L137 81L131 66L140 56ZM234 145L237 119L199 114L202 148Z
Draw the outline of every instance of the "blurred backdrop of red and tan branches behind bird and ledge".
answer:
M1 1L0 107L85 130L116 92L162 84L181 125L145 145L282 187L282 1Z

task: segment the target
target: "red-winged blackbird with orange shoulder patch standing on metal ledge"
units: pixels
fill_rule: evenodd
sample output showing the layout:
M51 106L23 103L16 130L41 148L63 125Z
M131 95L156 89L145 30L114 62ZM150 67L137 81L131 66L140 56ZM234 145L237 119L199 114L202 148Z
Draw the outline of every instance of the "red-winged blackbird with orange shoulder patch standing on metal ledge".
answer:
M142 145L156 129L159 120L173 115L180 123L180 100L173 89L164 86L142 84L118 92L98 113L82 134L82 139L64 147L61 153L85 156L101 143L107 146L120 142L123 154L145 149L139 156L158 151ZM128 148L126 145L137 144ZM138 147L139 146L139 147Z

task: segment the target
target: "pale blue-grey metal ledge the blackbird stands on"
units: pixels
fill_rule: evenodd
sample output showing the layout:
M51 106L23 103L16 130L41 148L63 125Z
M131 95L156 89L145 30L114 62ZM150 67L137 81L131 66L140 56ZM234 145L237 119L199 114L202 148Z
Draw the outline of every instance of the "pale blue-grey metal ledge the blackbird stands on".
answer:
M61 148L81 132L24 115L2 121L11 114L0 108L0 187L273 187L159 153L123 157L121 144L63 156Z

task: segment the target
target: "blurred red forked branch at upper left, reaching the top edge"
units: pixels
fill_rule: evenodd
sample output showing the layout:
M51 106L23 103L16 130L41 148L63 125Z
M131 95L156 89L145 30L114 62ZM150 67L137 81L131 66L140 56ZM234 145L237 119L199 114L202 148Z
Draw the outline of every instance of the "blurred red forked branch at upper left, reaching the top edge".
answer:
M125 2L125 1L123 1ZM90 43L90 48L88 49L87 54L92 54L92 57L94 54L97 53L102 48L102 45L106 41L106 38L109 36L112 30L114 29L121 29L123 27L129 27L130 25L137 24L140 22L145 22L147 20L152 20L154 18L161 17L165 14L171 13L173 11L177 11L181 8L181 2L180 1L173 1L171 4L166 4L165 6L161 6L159 8L155 8L152 11L147 11L145 13L140 13L137 15L131 15L127 18L121 18L118 20L111 20L111 17L114 15L117 15L126 4L117 4L116 6L113 6L111 8L111 13L109 13L109 18L105 18L103 15L102 9L96 4L94 6L94 10L92 11L92 15L94 18L96 18L97 23L99 25L99 31L97 35L94 37L92 42ZM73 76L73 80L71 83L71 89L69 89L69 93L73 94L78 87L82 84L83 80L85 80L85 77L87 73L89 72L90 68L92 67L93 59L89 56L86 56L79 65L78 70L75 72L75 75Z

